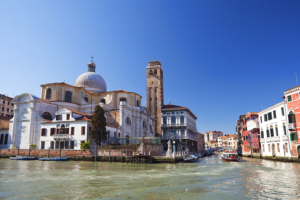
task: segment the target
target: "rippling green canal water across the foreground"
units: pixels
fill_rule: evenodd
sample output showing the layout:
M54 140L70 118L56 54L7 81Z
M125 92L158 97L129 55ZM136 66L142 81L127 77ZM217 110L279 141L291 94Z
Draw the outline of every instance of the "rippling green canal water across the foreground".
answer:
M196 163L0 159L0 199L300 199L299 163L220 155Z

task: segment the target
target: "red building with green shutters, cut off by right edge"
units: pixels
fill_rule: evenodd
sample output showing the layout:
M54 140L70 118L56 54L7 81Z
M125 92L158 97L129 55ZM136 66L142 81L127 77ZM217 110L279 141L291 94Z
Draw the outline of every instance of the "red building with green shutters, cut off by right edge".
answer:
M290 140L292 157L300 158L300 86L284 92L286 101L287 128Z

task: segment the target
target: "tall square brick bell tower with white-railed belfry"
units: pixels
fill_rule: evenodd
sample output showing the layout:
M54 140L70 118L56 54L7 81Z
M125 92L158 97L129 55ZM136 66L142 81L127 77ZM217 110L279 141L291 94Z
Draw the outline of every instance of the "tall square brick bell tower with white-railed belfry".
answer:
M164 106L164 79L161 63L155 59L146 68L147 108L155 117L155 137L161 137L161 107Z

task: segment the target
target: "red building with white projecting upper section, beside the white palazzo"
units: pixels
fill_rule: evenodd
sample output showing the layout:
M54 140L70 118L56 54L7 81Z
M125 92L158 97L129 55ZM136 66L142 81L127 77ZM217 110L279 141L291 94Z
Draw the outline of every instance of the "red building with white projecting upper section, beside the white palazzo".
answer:
M243 154L259 154L259 112L248 112L242 118L242 151ZM251 152L252 151L252 152Z

